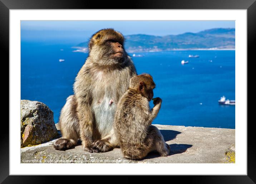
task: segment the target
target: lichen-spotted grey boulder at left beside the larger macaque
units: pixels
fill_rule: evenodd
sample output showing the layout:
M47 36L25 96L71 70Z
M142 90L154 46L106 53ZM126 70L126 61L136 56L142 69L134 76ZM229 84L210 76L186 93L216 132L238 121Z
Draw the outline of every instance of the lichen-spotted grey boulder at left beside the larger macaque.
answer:
M44 103L21 100L20 113L21 147L41 144L57 136L53 112Z

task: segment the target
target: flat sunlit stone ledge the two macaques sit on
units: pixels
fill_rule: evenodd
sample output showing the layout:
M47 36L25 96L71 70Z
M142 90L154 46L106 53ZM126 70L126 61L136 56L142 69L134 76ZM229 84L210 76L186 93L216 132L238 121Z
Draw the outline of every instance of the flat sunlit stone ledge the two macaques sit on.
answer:
M56 125L58 127L58 125ZM149 153L142 160L123 158L120 149L89 153L78 145L66 151L55 150L51 142L21 148L21 163L232 163L226 152L235 146L235 129L156 125L170 145L167 157Z

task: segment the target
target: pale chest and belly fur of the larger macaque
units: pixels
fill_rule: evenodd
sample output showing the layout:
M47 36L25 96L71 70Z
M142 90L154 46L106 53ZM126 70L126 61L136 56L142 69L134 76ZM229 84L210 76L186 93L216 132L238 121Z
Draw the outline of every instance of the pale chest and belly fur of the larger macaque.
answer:
M102 137L112 129L118 100L127 90L129 79L124 71L94 72L93 112Z

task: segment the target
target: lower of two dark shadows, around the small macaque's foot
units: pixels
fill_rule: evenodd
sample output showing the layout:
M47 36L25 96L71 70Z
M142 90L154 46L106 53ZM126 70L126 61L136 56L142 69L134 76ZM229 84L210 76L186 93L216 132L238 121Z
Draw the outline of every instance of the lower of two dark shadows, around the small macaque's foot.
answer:
M179 154L179 153L186 152L186 150L188 148L192 147L191 144L169 144L169 146L170 146L169 155L174 155L174 154ZM151 158L157 158L157 157L160 157L158 152L151 152L144 159L151 159Z

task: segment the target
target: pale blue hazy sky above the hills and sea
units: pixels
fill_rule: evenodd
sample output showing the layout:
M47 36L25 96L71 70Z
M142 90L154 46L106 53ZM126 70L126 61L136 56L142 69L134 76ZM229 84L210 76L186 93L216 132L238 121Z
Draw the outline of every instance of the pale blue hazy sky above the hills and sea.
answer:
M212 28L235 28L235 21L21 21L21 40L87 40L94 32L114 28L123 35L177 35Z

